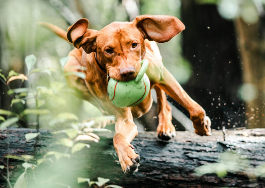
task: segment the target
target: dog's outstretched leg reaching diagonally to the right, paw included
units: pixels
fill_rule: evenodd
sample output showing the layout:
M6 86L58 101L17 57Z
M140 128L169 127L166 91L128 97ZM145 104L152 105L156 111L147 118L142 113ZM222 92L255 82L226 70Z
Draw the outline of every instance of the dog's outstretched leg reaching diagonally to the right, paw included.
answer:
M204 109L190 98L165 67L163 68L161 79L157 86L188 110L196 134L201 136L211 135L211 120L205 115Z

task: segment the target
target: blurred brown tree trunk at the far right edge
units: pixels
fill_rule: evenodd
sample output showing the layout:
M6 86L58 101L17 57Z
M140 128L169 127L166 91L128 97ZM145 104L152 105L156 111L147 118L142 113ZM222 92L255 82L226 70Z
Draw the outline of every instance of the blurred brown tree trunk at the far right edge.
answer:
M248 128L265 128L265 39L262 25L261 19L256 24L247 24L241 18L235 21L243 82L256 90L245 91L254 92L254 99L246 101Z

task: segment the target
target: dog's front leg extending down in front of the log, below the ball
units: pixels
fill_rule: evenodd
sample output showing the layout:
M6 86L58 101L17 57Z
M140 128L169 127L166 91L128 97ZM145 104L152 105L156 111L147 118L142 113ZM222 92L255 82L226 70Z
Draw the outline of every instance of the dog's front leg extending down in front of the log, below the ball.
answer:
M131 109L120 108L116 114L114 148L118 154L119 162L126 175L132 175L138 169L140 156L134 152L131 141L137 136L137 126L133 122Z

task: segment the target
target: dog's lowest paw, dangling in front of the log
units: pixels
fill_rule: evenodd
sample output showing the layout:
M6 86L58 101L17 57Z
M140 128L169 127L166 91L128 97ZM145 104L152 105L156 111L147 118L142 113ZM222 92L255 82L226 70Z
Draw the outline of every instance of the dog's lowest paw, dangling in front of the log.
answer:
M134 152L134 146L120 146L116 149L121 168L125 175L132 175L138 171L140 156Z

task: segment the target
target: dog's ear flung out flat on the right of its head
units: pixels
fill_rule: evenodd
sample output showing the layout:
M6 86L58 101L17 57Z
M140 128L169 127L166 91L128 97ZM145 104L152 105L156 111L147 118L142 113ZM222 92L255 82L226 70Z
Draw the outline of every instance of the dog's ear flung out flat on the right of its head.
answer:
M168 42L185 29L184 24L174 16L141 15L133 21L145 38L159 43Z

